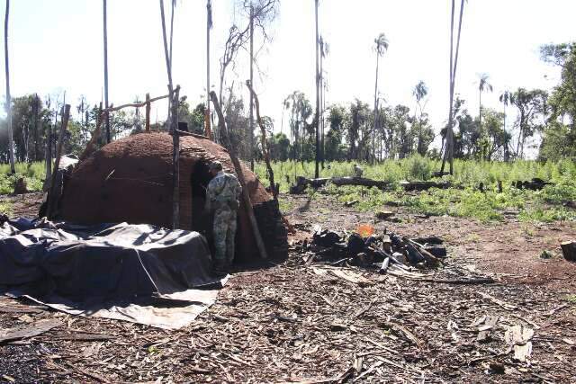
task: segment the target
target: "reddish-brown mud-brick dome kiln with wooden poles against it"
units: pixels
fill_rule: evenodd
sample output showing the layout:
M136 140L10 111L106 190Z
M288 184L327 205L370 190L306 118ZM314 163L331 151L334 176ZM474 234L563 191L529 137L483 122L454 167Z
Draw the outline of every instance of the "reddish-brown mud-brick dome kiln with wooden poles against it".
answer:
M76 223L126 221L166 228L172 222L172 137L166 133L140 133L102 147L76 165L65 182L59 216ZM235 174L224 147L207 138L180 140L180 228L210 236L209 218L202 210L208 165L218 160ZM277 201L246 165L244 182L254 205L258 227L270 255L287 254L286 229ZM238 211L238 258L257 257L254 235L242 206Z

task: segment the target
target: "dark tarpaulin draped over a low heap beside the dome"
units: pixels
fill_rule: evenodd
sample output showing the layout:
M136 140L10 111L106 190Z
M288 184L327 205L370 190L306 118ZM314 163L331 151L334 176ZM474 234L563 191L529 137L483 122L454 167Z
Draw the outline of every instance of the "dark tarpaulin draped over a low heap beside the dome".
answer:
M185 326L224 282L210 266L197 232L28 219L0 226L0 293L75 315Z

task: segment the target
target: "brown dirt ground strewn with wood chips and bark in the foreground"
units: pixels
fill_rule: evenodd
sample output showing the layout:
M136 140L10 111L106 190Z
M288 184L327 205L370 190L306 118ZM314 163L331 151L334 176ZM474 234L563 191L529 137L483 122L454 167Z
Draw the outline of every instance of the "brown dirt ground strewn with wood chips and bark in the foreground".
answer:
M235 273L218 302L182 330L71 317L1 299L0 333L41 318L61 319L62 325L0 345L0 380L576 381L576 305L570 296L576 265L559 255L560 241L576 237L573 223L536 226L510 217L484 225L401 210L400 223L374 223L374 213L329 197L291 199L288 219L302 230L292 239L290 258ZM14 211L23 212L17 204ZM298 243L310 236L307 228L354 229L358 223L444 237L449 258L438 271L425 272L428 281L303 265ZM543 260L545 249L557 255ZM430 282L471 275L497 282ZM509 341L513 326L524 340ZM530 345L526 361L515 359Z

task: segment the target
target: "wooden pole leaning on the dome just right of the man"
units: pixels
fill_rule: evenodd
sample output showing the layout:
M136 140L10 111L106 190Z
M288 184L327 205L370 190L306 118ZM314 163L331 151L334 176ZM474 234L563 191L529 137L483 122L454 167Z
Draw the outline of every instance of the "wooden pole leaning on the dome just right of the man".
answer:
M228 129L226 128L226 122L224 121L224 114L222 113L220 103L218 102L218 96L214 91L211 91L210 98L214 106L214 111L218 115L218 129L220 129L221 135L224 138L224 144L226 145L226 147L228 147L230 159L232 160L232 164L234 165L236 174L238 174L238 182L240 182L240 185L242 186L242 200L244 201L244 207L246 209L247 217L248 220L250 221L252 232L254 233L254 238L256 240L258 252L260 253L260 257L266 260L268 258L268 254L266 252L266 246L264 245L262 235L260 235L260 229L258 228L256 216L254 215L254 207L252 206L252 201L250 200L250 194L248 193L247 185L245 183L244 172L242 171L242 165L240 165L240 161L238 160L238 156L236 155L236 149L231 145Z

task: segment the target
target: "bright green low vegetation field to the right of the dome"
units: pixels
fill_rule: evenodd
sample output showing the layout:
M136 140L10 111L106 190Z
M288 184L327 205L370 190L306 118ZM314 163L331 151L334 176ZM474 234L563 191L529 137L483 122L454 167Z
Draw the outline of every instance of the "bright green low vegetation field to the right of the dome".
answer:
M353 174L351 162L330 162L320 171L320 177L342 177ZM562 206L564 201L576 200L576 164L570 160L545 163L517 160L509 163L455 160L454 176L445 176L457 188L431 189L418 194L408 194L394 186L402 180L429 180L439 167L438 160L423 156L410 156L401 160L386 160L378 165L361 165L365 177L392 183L392 191L376 188L328 185L324 191L336 196L339 202L360 201L357 210L383 209L394 201L412 212L430 215L450 215L479 219L483 222L503 219L506 210L518 211L522 221L576 220L576 211ZM311 177L312 162L275 162L275 180L281 183L281 192L288 192L295 176ZM266 166L257 164L256 172L266 180ZM518 190L511 183L539 177L551 181L542 191ZM289 180L289 182L287 182ZM498 181L503 191L498 192ZM483 183L485 192L478 191Z

